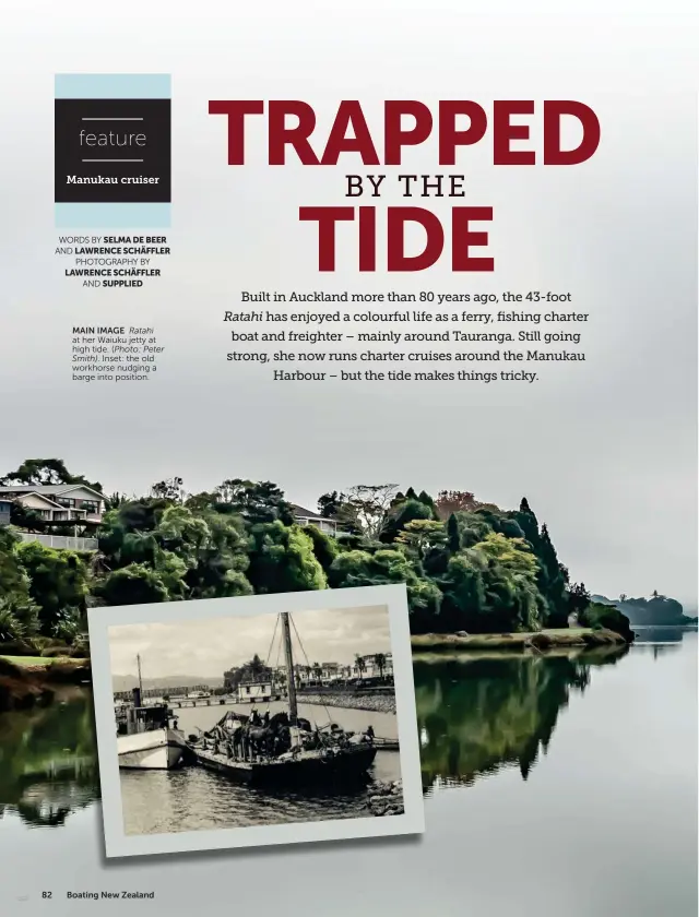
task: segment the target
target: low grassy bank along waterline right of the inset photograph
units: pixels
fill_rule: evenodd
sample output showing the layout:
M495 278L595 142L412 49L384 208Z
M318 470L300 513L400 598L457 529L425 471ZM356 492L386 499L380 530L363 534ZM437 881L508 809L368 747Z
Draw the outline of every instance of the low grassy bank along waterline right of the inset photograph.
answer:
M624 644L624 638L611 630L565 628L535 633L422 633L411 638L414 652L429 650L511 650L514 652L545 652L568 646L613 646Z

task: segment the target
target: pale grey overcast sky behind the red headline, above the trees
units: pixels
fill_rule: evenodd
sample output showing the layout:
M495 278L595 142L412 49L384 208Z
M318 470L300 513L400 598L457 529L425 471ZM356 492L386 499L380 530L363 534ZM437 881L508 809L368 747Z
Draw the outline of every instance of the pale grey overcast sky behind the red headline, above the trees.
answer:
M368 35L359 20L357 41ZM91 17L75 17L70 29L55 23L60 40L35 34L27 19L32 57L21 66L0 60L5 82L22 84L22 93L2 102L3 122L19 140L0 153L3 174L15 177L3 191L3 207L14 216L0 227L1 306L5 326L21 333L0 360L0 474L29 456L58 456L107 492L143 493L174 475L190 491L241 477L273 480L309 508L328 490L387 481L433 495L470 490L502 508L526 496L574 581L608 596L657 590L694 604L694 93L670 78L668 61L645 75L635 71L632 82L623 59L616 75L592 66L576 75L542 33L536 66L524 74L517 61L525 50L514 33L498 39L494 58L477 41L465 53L463 29L441 27L439 41L423 47L411 16L399 20L382 21L390 50L381 43L380 52L392 63L378 80L344 45L310 33L301 46L285 43L284 16L265 33L264 50L236 26L210 35L205 53L185 40L149 41L129 45L126 58L122 44L114 55L91 50ZM152 24L159 28L159 19ZM316 27L322 33L327 25ZM83 72L121 72L129 55L142 62L142 53L147 71L174 74L173 254L163 276L141 289L84 289L54 255L51 74L75 61ZM298 222L298 207L347 203L345 175L370 168L352 157L337 167L269 167L264 119L253 119L247 132L249 165L227 166L225 119L210 116L208 102L240 97L242 86L254 86L259 98L312 103L321 135L342 98L363 102L379 136L386 98L433 106L470 98L488 110L491 99L513 95L573 98L594 108L602 142L579 167L494 167L485 141L441 169L465 175L466 203L494 207L491 276L452 274L441 263L418 275L359 274L348 224L339 236L337 271L319 275L315 228ZM538 121L532 124L536 146ZM423 144L393 171L435 174L435 163L434 144ZM396 182L390 189L380 209L405 203ZM422 203L448 219L452 202ZM589 314L576 329L587 360L540 364L535 384L280 383L271 364L226 360L233 345L224 311L241 310L241 293L260 289L568 291L571 308ZM143 384L74 383L71 329L93 323L155 326L165 347L156 377Z

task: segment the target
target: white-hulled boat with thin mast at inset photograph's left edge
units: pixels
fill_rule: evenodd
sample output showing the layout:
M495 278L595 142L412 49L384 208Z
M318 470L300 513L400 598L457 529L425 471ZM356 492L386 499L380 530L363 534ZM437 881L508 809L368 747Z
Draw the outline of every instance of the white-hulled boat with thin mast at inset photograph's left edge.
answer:
M119 767L171 771L186 762L187 741L167 704L141 704L141 658L137 660L139 687L133 689L133 703L115 707Z

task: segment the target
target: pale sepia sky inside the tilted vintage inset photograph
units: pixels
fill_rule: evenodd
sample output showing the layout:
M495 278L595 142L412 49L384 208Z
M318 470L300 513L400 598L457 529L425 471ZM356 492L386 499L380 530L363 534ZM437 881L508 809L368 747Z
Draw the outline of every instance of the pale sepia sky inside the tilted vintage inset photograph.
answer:
M141 655L143 678L174 675L221 678L224 671L242 665L256 653L272 666L283 665L281 624L275 633L276 619L276 615L257 615L111 627L111 675L135 675L137 653ZM301 665L306 665L306 658L310 665L345 664L353 662L357 653L364 656L391 652L384 605L300 611L294 614L292 621L292 653L294 662Z

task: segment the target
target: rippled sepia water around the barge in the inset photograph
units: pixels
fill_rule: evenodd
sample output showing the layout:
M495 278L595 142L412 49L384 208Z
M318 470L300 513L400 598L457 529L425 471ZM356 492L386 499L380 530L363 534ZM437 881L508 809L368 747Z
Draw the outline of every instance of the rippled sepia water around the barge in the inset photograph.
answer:
M266 708L262 705L260 712L263 707ZM281 703L270 704L271 713L282 708ZM210 729L228 710L249 714L250 705L183 707L177 711L179 728L186 735L196 733L197 726ZM371 724L377 736L398 736L396 717L387 713L342 707L328 707L325 713L324 707L315 704L299 704L298 712L319 726L331 719L344 729L357 731ZM370 784L342 794L261 793L203 767L169 772L121 771L120 776L127 834L367 818L367 802L372 795ZM379 752L369 776L379 781L400 779L400 755Z

